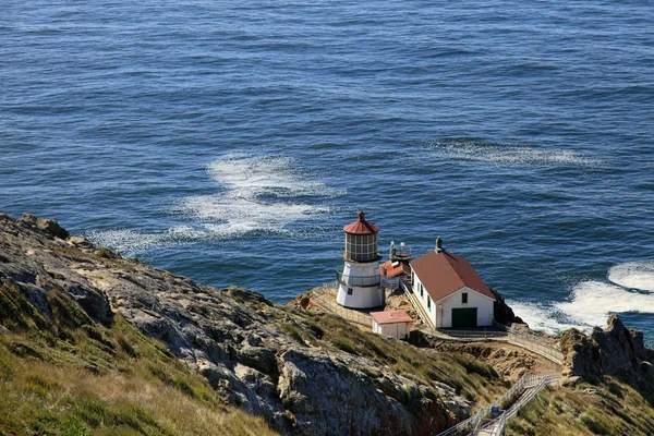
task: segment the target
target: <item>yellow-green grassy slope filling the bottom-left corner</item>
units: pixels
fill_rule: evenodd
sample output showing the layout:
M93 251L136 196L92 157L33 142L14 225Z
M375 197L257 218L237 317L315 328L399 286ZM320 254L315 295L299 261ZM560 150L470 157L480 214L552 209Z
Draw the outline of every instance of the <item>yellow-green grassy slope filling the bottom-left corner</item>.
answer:
M56 288L48 303L52 319L0 284L1 436L274 434L122 317L98 326Z

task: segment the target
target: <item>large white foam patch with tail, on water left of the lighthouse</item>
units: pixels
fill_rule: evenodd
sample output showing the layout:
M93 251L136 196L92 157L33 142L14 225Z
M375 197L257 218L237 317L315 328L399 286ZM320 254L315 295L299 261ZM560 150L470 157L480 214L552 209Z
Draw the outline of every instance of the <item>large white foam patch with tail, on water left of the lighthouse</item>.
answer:
M207 166L217 192L183 198L172 207L193 221L160 232L114 229L90 232L98 245L122 253L206 239L239 237L252 231L287 232L288 227L330 211L325 199L342 195L314 180L296 159L286 156L232 154ZM301 231L295 228L294 231Z

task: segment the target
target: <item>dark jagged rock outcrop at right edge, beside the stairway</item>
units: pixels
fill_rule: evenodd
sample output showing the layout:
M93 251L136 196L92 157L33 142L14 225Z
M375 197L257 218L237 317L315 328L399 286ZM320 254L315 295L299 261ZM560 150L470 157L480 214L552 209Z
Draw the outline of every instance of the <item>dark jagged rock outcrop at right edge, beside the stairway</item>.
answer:
M564 377L597 384L605 375L628 384L654 382L652 359L643 334L628 329L617 315L610 315L605 329L595 327L590 337L577 329L561 336ZM574 378L577 379L577 378Z

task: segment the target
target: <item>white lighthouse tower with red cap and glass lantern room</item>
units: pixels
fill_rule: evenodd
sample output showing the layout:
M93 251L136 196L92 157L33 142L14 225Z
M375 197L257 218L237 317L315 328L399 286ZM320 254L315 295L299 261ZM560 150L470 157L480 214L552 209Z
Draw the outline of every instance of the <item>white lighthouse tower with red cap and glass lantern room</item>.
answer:
M377 232L379 227L364 218L346 227L346 261L343 269L336 272L338 293L336 302L351 308L372 308L385 305L385 293L380 286Z

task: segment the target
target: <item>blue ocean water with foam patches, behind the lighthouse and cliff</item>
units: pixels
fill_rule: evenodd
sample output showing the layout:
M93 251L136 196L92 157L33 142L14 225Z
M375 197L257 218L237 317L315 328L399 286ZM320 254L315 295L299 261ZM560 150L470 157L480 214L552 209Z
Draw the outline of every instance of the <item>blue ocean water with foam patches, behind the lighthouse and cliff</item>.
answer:
M645 1L5 0L0 210L278 302L362 207L532 326L654 342Z

